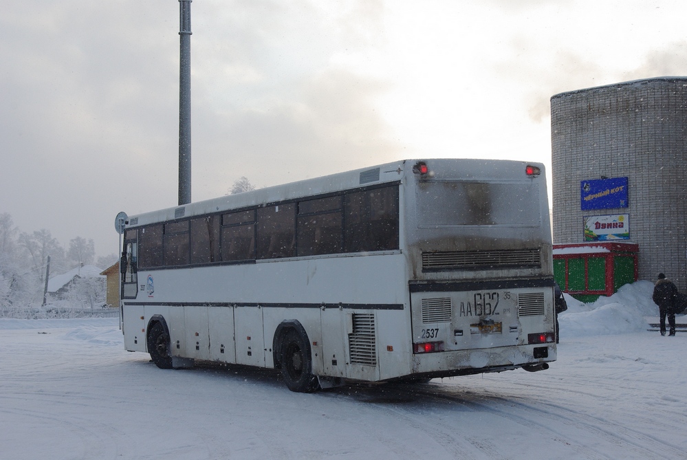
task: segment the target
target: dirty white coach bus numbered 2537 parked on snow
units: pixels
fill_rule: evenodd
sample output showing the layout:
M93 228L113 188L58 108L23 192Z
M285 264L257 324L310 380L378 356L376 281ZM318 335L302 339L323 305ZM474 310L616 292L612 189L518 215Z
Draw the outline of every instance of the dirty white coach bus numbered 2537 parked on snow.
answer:
M292 391L547 369L542 164L404 160L128 218L124 347Z

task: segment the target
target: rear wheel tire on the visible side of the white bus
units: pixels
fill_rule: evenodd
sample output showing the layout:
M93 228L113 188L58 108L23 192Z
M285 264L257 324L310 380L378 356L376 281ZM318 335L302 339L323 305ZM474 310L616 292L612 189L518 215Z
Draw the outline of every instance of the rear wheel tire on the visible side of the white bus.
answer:
M320 389L312 374L312 358L307 340L296 329L287 329L279 352L281 375L286 386L297 393L314 393Z

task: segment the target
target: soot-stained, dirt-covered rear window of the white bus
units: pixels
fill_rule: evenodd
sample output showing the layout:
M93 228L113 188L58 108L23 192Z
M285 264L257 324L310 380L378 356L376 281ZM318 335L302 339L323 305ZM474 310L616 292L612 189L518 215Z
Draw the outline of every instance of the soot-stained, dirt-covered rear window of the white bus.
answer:
M433 181L416 190L419 228L541 225L537 184Z

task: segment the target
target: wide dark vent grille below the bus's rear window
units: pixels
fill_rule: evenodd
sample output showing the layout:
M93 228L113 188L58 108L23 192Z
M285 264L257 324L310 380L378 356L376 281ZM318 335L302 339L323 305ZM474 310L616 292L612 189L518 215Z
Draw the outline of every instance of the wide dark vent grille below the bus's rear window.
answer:
M540 268L541 250L423 252L422 270L499 270Z

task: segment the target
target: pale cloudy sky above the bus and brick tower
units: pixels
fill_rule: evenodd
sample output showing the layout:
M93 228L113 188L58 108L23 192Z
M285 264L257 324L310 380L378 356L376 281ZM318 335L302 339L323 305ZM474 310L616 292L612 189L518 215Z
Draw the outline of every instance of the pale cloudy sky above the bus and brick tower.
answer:
M684 1L195 0L192 200L404 158L544 163L549 98L687 75ZM117 252L177 205L179 2L0 16L0 213ZM550 195L550 171L549 171Z

